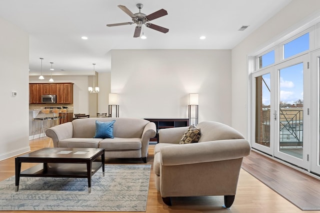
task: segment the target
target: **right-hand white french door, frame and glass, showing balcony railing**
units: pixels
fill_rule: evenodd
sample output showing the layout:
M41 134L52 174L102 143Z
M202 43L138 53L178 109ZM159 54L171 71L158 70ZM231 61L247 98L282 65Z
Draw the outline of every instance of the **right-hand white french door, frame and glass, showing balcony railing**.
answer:
M274 156L309 169L310 75L308 55L302 55L274 67Z

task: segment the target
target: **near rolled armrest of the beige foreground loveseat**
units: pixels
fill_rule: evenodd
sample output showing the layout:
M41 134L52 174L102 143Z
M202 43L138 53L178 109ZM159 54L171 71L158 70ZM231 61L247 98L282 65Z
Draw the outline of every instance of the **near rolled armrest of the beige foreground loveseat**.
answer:
M173 166L242 158L250 154L251 146L245 139L232 139L166 146L160 150L161 165Z

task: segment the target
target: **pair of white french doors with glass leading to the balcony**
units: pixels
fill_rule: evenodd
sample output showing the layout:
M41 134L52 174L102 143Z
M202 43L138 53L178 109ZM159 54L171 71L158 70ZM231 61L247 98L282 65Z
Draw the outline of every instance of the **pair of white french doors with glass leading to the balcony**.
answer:
M308 54L252 74L252 147L309 170Z

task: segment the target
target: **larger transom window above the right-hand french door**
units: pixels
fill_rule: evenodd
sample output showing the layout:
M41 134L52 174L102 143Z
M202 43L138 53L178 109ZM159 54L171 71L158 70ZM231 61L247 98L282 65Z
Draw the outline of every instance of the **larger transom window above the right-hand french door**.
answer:
M309 33L291 40L283 45L283 59L304 52L309 49Z

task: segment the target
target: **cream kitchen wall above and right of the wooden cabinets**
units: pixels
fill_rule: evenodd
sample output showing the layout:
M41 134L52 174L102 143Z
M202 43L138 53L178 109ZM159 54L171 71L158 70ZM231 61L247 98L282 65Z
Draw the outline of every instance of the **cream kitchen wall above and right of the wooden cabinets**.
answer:
M48 83L50 76L44 75L44 80L39 80L38 76L29 76L30 83ZM85 113L89 112L89 92L88 92L88 76L79 75L56 75L52 76L54 83L74 83L73 84L73 112Z

